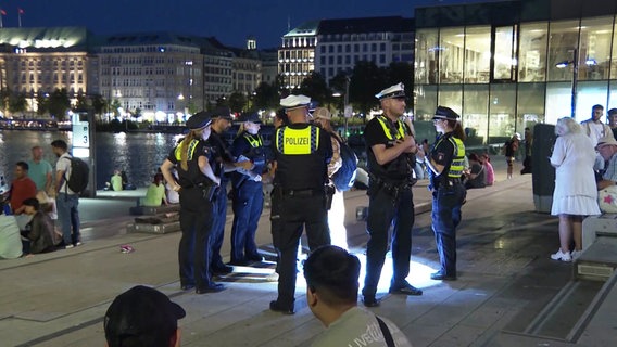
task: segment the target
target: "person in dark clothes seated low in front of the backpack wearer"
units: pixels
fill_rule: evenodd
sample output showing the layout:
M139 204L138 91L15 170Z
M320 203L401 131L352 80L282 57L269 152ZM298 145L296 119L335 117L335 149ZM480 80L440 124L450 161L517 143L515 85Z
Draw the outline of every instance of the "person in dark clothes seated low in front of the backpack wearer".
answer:
M47 214L40 210L37 198L26 198L23 203L24 214L33 218L21 231L24 254L38 254L55 250L53 242L53 222Z

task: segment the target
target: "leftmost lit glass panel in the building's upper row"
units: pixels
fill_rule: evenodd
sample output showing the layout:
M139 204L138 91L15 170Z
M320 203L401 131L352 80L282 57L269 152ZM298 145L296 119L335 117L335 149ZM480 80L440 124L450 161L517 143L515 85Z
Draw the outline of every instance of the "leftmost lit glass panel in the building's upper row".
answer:
M425 29L416 33L416 59L414 62L416 83L437 83L437 29Z

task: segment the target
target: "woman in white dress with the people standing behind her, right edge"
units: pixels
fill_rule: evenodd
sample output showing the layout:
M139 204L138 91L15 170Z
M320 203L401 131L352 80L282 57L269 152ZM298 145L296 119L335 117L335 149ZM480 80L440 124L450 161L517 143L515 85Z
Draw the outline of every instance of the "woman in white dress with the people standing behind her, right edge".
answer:
M559 218L559 249L551 255L554 260L571 261L581 255L582 220L601 214L597 191L617 184L617 108L608 111L614 128L601 120L603 115L604 107L594 105L590 119L578 124L564 117L555 126L551 214Z

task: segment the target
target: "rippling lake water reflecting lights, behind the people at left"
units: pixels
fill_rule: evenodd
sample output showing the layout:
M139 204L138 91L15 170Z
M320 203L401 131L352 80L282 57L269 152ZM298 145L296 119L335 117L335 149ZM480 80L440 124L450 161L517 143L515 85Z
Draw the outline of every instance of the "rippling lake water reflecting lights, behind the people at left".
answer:
M56 158L49 145L62 139L71 143L72 132L0 131L0 175L13 177L13 166L30 158L30 149L40 145L46 160L55 165ZM124 170L130 183L147 187L156 169L174 147L178 138L173 133L106 133L98 132L97 189L102 189L114 169Z

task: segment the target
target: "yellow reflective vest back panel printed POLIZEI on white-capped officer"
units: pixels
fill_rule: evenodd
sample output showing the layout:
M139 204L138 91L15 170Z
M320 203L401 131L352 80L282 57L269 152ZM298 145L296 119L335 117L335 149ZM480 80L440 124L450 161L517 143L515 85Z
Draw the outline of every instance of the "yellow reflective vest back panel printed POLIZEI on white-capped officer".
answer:
M286 155L314 153L319 147L319 128L312 126L304 129L280 128L276 131L276 147Z

